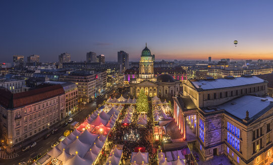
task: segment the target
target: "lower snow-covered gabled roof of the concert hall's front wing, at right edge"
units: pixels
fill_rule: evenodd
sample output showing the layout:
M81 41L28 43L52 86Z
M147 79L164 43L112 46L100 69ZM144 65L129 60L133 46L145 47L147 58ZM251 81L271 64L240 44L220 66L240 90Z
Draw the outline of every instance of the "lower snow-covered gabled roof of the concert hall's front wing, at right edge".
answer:
M273 102L273 98L271 97L261 98L246 95L217 106L217 110L225 109L225 111L240 119L244 119L246 117L246 111L248 111L249 118L252 118L267 108L271 102Z

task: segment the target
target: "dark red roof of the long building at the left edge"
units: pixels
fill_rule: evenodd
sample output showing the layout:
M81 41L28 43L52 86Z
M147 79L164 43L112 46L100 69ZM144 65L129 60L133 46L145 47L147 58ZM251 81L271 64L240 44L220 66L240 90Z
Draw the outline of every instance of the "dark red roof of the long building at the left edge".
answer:
M12 94L8 90L1 89L0 104L6 108L18 108L56 97L64 93L65 91L61 85L52 85L16 94Z

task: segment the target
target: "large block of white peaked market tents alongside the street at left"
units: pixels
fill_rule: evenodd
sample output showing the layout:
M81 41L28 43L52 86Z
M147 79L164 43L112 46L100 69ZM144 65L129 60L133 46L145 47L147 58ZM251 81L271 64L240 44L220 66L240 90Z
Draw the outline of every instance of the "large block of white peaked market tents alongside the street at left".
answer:
M56 157L61 160L64 165L90 165L95 163L104 146L108 132L114 127L122 108L112 106L107 113L103 109L97 109L47 154L51 158ZM115 156L118 157L117 154ZM117 160L117 158L115 159ZM111 164L114 164L114 161Z

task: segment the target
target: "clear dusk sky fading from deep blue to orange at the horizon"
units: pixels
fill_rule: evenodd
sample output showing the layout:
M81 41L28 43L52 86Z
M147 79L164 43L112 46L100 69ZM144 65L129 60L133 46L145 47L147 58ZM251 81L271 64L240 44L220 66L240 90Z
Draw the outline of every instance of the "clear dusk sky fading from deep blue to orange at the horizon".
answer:
M0 61L86 52L139 60L273 59L273 1L1 1ZM237 47L233 41L238 40Z

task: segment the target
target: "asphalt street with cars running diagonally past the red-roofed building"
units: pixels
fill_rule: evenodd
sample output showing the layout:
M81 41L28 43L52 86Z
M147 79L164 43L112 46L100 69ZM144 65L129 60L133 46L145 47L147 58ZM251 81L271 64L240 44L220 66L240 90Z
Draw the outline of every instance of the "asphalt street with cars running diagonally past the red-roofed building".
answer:
M113 95L115 94L116 96L120 96L119 93L117 93L117 90L114 92L114 90L116 90L115 88L113 88L108 94L109 95ZM102 104L104 100L106 100L106 97L101 98L99 101L96 101L96 103L89 103L86 104L84 106L81 107L81 111L73 117L73 121L78 121L78 122L82 122L85 120L85 118L91 114L94 110L96 110L97 106L99 104ZM32 157L36 156L37 154L41 154L43 155L44 153L48 152L51 149L51 143L55 142L55 141L59 141L59 137L63 135L64 131L67 129L70 129L70 124L68 124L66 127L55 127L58 128L58 133L57 134L53 134L51 135L49 138L47 139L41 139L39 141L36 141L37 144L36 146L30 148L29 150L23 152L23 151L19 151L17 152L17 154L19 156L12 158L12 159L0 159L0 165L16 165L19 162L25 161L28 162L31 160Z

